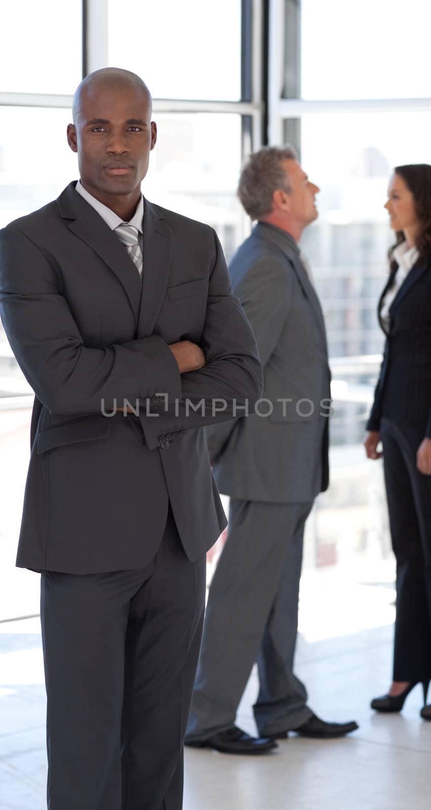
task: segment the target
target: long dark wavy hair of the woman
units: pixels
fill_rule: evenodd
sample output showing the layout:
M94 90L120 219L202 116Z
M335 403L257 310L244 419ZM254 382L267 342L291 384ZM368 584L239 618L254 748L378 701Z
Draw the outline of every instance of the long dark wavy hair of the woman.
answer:
M416 216L420 222L419 232L416 234L416 248L422 259L431 258L431 166L428 163L409 164L397 166L395 174L402 177L413 194ZM389 250L390 269L396 267L393 258L394 250L405 241L403 231L396 232L395 245Z

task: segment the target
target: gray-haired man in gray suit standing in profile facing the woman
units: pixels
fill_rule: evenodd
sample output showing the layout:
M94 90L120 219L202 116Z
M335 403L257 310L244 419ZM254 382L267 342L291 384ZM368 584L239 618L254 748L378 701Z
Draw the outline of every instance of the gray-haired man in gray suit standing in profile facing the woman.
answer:
M231 501L186 736L228 753L267 752L288 731L331 738L357 728L316 717L292 671L305 520L328 485L325 325L297 245L318 216L317 193L291 147L251 156L238 189L258 224L230 274L257 339L265 401L247 419L207 430L220 492ZM258 738L235 726L255 661Z

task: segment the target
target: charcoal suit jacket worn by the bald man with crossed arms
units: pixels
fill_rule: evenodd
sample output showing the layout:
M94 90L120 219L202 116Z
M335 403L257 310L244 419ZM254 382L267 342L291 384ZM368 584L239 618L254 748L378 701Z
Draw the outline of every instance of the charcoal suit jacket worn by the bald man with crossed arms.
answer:
M70 183L0 232L0 308L36 394L17 565L147 565L169 501L198 559L226 522L201 428L262 390L254 336L212 228L146 201L141 290L126 249ZM168 345L185 339L203 348L207 366L180 375ZM156 394L169 398L167 411ZM124 398L133 407L139 399L143 430L135 417L102 415ZM228 403L215 417L212 398ZM204 399L204 413L187 416L186 399Z

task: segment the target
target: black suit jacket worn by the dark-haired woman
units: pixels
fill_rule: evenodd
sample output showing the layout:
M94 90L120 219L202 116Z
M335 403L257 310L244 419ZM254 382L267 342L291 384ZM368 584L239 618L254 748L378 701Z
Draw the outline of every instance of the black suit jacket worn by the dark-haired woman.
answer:
M380 313L396 270L378 302L386 344L367 429L379 430L386 416L423 424L424 437L431 438L431 260L419 259L412 267L390 305L387 331Z

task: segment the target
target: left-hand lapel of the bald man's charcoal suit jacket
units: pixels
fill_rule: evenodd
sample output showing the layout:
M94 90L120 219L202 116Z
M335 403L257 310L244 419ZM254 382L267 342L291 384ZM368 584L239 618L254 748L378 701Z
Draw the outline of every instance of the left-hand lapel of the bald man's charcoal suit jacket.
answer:
M67 186L57 203L62 219L70 220L67 224L69 230L91 247L117 276L138 323L141 282L124 245L97 211L76 193L75 182Z

